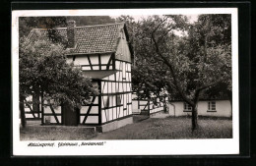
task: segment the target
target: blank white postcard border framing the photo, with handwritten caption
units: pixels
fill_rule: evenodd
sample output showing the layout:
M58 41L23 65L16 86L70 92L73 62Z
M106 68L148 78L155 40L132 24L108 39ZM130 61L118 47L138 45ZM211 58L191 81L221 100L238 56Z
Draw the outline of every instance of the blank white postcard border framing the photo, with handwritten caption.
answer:
M143 140L40 140L21 141L19 122L19 17L32 16L118 16L118 15L231 14L232 36L232 131L233 138L143 139ZM194 155L239 153L237 8L25 10L12 12L13 155ZM54 146L28 146L54 143ZM60 146L60 142L102 142L103 145Z

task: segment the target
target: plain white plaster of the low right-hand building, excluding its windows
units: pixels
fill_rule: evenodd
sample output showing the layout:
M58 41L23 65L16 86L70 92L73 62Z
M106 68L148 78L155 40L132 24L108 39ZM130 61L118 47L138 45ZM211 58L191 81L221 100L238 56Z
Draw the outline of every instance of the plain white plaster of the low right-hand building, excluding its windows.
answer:
M173 104L173 105L171 105ZM183 102L171 102L168 105L169 114L171 116L188 116L190 112L184 112ZM174 111L175 108L175 111ZM217 112L208 112L208 101L199 101L198 103L198 115L199 116L214 116L214 117L231 117L231 105L228 100L216 101Z

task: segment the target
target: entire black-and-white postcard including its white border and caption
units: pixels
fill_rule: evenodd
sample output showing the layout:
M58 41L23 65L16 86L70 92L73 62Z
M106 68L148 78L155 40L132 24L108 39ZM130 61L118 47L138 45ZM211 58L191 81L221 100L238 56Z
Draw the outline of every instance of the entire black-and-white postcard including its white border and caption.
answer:
M235 8L13 11L12 38L15 155L238 154Z

